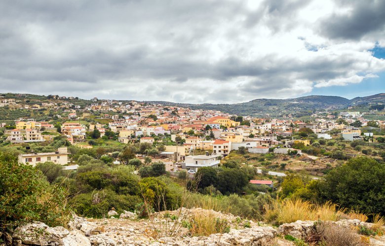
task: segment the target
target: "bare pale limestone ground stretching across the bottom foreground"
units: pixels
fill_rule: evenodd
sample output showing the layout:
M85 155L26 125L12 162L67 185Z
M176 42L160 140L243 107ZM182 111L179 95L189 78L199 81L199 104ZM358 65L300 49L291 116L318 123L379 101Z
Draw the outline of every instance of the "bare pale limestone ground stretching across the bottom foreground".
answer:
M114 211L115 212L115 211ZM227 221L228 230L209 236L191 236L187 221L197 213L209 213ZM264 246L294 245L284 240L285 235L305 239L311 233L315 221L296 221L273 228L262 222L244 220L230 214L222 214L203 209L180 209L177 211L155 213L150 219L138 219L131 212L120 215L109 213L108 219L85 219L74 216L68 229L57 226L49 227L41 222L19 226L7 245L38 246ZM331 222L342 227L358 225L370 226L370 223L357 219ZM385 245L384 236L370 238L369 245Z

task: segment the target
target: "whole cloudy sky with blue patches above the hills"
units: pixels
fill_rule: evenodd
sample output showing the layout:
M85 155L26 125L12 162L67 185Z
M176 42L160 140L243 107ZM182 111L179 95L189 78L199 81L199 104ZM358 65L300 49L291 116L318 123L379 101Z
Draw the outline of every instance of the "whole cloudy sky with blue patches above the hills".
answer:
M0 92L237 103L385 92L384 0L4 0Z

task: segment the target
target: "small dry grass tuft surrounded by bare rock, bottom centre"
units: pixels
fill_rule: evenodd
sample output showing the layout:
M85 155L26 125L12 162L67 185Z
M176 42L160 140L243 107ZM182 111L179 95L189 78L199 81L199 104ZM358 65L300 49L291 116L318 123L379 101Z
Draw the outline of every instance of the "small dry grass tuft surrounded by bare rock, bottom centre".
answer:
M192 236L209 236L230 231L227 220L216 217L210 211L201 211L194 214L190 224Z

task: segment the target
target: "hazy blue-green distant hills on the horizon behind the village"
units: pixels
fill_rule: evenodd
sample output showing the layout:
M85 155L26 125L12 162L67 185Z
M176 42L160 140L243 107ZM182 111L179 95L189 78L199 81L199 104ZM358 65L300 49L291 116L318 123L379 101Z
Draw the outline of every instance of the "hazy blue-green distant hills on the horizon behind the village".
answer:
M271 116L293 114L301 117L311 114L312 111L331 111L344 109L349 106L367 103L385 103L385 93L366 97L356 97L351 100L341 96L310 95L290 99L255 99L249 102L234 104L189 104L165 101L151 101L167 106L188 107L191 109L220 110L229 114Z

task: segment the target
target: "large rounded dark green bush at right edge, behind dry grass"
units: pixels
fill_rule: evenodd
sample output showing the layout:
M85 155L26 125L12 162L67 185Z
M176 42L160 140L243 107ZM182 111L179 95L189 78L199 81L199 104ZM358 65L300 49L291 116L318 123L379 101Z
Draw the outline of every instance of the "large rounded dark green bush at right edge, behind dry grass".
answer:
M366 215L385 215L385 164L365 157L351 158L318 183L319 197Z

